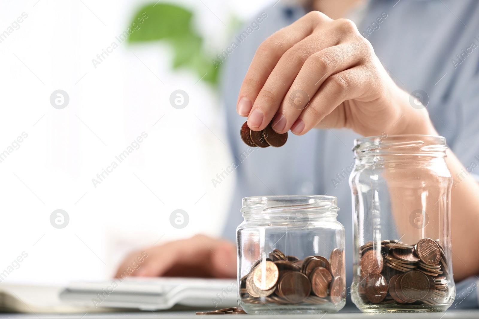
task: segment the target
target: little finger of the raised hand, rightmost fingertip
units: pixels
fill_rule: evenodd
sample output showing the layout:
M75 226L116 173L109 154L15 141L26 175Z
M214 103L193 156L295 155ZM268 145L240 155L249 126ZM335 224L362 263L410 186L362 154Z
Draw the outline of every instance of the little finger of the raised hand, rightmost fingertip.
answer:
M360 85L358 85L360 84ZM303 135L318 125L338 105L348 99L354 99L364 94L365 87L373 87L370 77L363 66L355 66L328 77L311 99L308 107L299 115L291 132ZM340 110L335 111L340 118Z

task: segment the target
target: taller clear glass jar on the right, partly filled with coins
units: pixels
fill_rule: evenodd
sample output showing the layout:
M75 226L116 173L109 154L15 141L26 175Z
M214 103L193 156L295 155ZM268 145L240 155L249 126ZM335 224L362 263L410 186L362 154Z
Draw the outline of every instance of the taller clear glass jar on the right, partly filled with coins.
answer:
M445 138L357 139L351 297L363 312L439 312L454 301Z

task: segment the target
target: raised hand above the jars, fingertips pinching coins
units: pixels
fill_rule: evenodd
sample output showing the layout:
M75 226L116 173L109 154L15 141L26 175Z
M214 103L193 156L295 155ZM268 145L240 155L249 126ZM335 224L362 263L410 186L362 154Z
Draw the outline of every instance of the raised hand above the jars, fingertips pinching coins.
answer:
M373 47L347 19L319 11L274 33L256 51L239 92L237 111L261 131L302 135L350 128L370 136L431 134L427 111L389 77Z

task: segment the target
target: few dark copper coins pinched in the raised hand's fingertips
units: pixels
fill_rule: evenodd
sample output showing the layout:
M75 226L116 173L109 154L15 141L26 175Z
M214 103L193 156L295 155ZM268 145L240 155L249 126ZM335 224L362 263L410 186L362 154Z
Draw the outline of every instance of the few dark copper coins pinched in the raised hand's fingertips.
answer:
M241 126L240 135L243 142L251 147L281 147L288 140L288 133L278 134L274 132L271 123L262 131L252 131L248 127L248 123L244 122Z

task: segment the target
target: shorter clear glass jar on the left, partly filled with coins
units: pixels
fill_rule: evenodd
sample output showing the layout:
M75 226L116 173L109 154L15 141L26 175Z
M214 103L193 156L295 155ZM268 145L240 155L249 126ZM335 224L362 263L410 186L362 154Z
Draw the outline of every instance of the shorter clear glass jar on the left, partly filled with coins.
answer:
M243 198L238 303L249 314L336 312L345 304L344 227L332 196Z

